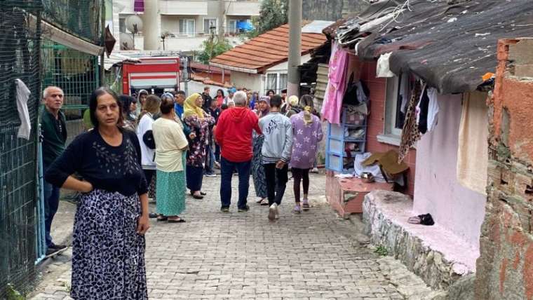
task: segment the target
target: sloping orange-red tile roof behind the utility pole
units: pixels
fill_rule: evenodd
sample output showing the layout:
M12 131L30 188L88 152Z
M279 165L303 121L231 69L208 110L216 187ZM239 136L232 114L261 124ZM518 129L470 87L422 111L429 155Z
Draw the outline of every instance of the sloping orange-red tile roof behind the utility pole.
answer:
M302 34L302 55L318 48L325 41L324 34ZM288 49L289 25L285 24L212 58L209 64L234 71L261 73L288 60Z

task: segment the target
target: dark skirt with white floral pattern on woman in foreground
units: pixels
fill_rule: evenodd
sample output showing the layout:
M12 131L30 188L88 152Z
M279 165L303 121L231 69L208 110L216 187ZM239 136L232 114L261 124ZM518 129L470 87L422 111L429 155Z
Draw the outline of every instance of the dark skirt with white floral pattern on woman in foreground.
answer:
M137 234L137 194L103 190L80 197L74 219L74 299L148 299L144 236Z

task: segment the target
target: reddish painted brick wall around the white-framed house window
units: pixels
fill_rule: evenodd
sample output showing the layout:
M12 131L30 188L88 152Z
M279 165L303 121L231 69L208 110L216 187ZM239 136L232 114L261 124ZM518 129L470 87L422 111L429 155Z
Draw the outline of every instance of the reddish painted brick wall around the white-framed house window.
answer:
M384 114L386 100L386 79L376 78L376 62L363 62L360 78L370 90L370 116L367 128L367 152L386 152L391 149L398 151L398 146L378 142L377 135L384 132ZM414 172L417 161L417 151L412 149L405 158L409 165L407 173L407 190L402 191L410 196L414 195Z

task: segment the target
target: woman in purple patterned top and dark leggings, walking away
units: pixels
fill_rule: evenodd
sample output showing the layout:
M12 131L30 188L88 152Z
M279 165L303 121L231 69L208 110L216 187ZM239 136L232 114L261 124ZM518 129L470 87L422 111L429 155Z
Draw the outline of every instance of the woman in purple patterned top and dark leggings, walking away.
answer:
M295 213L309 210L309 169L313 168L318 151L318 142L322 140L322 125L318 116L312 114L313 97L303 95L299 106L303 108L290 117L292 123L292 156L290 166L294 177ZM304 197L300 205L300 182L303 182Z

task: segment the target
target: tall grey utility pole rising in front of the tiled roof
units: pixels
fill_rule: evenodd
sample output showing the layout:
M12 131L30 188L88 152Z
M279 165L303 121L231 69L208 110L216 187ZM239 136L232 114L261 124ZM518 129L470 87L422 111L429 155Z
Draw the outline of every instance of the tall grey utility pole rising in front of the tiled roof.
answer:
M289 0L289 66L287 97L299 97L298 66L302 56L302 0Z

